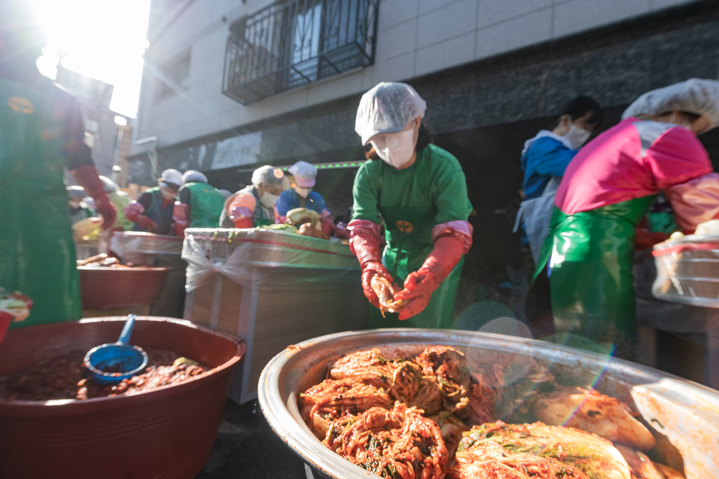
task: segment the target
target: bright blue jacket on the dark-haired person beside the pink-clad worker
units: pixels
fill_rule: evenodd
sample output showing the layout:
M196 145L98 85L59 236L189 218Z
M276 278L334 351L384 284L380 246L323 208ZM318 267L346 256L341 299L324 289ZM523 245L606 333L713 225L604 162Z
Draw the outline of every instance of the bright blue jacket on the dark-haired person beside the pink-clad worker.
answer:
M524 199L540 197L551 177L564 176L564 170L578 151L567 148L551 136L541 136L533 141L521 159Z

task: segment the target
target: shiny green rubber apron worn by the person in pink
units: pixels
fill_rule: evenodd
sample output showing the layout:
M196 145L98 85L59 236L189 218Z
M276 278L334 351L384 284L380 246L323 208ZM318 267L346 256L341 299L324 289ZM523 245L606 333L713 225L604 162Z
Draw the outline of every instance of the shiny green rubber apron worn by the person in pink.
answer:
M570 325L572 332L595 343L633 341L634 228L654 197L572 215L554 207L534 277L550 261L551 307L557 324Z

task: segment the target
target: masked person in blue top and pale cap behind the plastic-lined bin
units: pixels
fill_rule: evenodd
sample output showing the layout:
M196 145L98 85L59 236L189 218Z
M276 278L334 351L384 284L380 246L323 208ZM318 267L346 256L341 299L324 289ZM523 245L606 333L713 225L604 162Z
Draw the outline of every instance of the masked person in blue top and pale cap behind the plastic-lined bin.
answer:
M290 175L295 179L290 190L285 190L277 200L277 213L280 223L285 222L287 212L295 208L308 208L319 213L322 232L329 236L334 230L334 220L324 198L316 191L312 191L317 177L317 169L308 162L296 162L290 167Z

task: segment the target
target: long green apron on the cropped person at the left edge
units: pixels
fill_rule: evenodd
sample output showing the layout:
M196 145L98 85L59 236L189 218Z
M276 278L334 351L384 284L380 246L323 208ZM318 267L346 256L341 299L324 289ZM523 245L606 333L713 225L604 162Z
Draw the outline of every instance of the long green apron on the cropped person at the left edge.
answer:
M0 287L34 301L29 317L10 327L81 317L64 118L52 116L50 88L0 79Z

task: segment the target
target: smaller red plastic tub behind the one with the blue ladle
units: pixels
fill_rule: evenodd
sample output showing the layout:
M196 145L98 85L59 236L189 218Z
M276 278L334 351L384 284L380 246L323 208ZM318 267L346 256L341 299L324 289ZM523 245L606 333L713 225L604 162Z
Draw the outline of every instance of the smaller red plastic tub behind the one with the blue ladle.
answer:
M78 266L83 309L100 310L155 302L162 293L170 269Z

